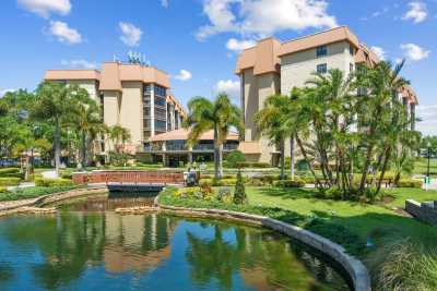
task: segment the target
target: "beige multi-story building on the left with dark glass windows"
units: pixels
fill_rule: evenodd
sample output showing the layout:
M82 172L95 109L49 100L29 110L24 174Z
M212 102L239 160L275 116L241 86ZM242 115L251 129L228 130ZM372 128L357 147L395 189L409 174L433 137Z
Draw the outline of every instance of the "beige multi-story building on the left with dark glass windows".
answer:
M129 130L130 153L144 153L155 134L181 126L186 111L170 93L168 74L139 63L106 62L102 70L49 70L46 81L76 84L101 106L108 125ZM106 150L111 150L107 143Z

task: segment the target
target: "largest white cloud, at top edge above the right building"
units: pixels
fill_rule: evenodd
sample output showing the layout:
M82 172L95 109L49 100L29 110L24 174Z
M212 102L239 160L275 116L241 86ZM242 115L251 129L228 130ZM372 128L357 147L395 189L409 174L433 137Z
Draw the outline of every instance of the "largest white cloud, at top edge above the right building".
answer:
M234 32L240 35L265 36L280 31L336 26L327 12L324 0L205 0L203 13L210 24L199 28L197 38Z

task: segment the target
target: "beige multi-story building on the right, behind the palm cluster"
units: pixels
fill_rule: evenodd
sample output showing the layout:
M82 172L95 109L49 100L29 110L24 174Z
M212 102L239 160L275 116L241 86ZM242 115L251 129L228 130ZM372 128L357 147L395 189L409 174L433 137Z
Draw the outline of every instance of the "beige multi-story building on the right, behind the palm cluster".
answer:
M261 147L259 159L271 162L277 151L260 136L253 122L253 114L270 95L288 95L293 87L304 87L314 72L327 73L339 69L347 74L359 64L371 66L378 61L378 57L346 26L285 43L272 37L259 40L240 53L236 65L236 74L240 77L245 142L258 142ZM412 117L411 128L414 130L417 97L411 87L405 86L399 98ZM290 155L288 149L285 153Z

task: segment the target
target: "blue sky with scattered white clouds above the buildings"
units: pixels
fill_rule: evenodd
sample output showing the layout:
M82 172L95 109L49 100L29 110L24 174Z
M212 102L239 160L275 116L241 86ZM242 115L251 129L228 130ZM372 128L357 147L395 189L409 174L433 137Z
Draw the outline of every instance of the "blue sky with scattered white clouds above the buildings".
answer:
M418 95L418 130L437 135L437 0L2 0L0 96L35 89L49 69L99 69L135 51L170 75L174 95L228 93L238 52L347 25Z

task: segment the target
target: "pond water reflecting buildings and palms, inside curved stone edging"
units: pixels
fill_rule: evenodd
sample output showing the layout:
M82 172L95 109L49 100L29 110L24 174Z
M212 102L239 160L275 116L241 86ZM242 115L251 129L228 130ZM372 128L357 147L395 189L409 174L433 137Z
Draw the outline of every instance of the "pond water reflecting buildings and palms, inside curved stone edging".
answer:
M0 290L350 290L330 264L262 228L117 215L102 195L0 219Z

